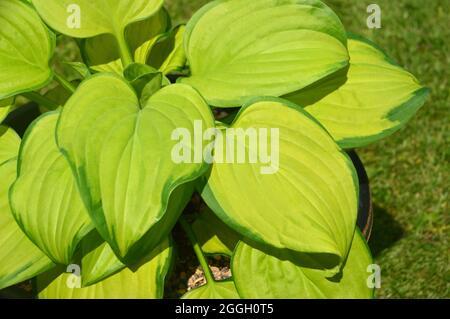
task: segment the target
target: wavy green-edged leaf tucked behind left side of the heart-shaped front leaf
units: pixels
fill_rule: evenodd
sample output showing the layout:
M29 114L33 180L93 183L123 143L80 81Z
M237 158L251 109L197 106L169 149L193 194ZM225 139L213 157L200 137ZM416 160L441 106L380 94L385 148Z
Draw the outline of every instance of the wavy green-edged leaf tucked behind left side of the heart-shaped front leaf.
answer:
M27 236L55 263L68 265L93 225L69 163L56 145L58 118L59 112L47 113L25 133L10 202Z

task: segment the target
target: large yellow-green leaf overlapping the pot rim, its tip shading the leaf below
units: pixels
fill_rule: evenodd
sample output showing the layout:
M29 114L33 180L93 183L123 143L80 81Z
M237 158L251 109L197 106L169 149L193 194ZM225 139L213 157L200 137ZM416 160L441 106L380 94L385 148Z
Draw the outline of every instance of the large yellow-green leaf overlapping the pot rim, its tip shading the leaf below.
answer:
M346 153L301 107L278 98L249 102L231 127L243 134L216 137L202 192L208 206L252 240L334 254L342 263L358 208L357 174Z

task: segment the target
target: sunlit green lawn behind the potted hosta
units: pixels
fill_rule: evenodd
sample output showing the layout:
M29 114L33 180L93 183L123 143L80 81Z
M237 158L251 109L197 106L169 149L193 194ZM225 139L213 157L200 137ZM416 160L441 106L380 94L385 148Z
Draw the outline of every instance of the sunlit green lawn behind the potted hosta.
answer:
M207 0L166 0L175 23ZM382 269L380 298L450 297L450 28L447 0L378 0L382 28L366 26L370 1L326 1L348 31L364 35L432 89L394 136L360 150L371 180L370 245Z

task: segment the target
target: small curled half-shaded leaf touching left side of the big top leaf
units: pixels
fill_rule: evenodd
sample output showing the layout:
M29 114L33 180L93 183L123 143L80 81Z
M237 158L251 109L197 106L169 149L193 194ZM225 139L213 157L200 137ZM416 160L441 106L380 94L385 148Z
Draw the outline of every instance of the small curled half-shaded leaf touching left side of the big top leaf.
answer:
M147 63L163 74L181 71L186 65L183 38L186 27L180 25L158 39L151 48Z

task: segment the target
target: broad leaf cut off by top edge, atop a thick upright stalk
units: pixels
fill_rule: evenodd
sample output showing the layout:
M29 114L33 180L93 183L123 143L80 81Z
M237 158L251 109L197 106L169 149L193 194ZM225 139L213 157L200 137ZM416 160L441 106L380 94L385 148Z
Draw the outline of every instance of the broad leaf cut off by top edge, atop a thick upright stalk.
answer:
M133 23L152 16L163 0L32 0L53 29L75 38L123 33ZM79 22L79 23L78 23Z

